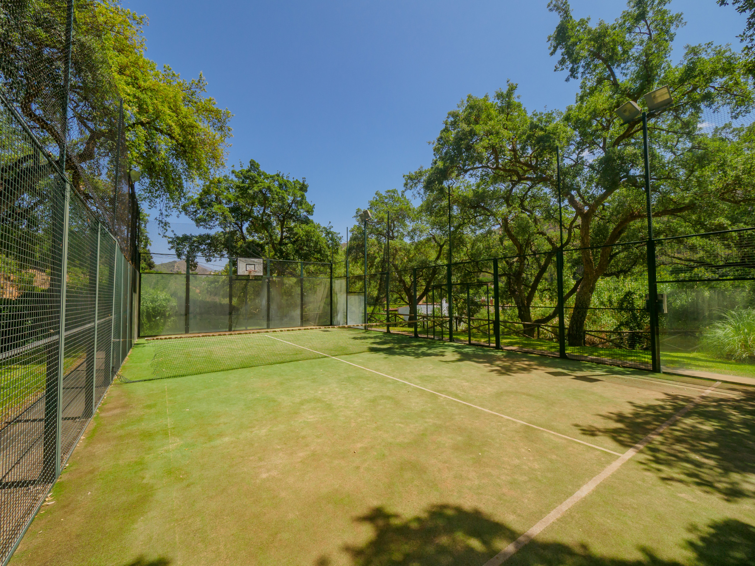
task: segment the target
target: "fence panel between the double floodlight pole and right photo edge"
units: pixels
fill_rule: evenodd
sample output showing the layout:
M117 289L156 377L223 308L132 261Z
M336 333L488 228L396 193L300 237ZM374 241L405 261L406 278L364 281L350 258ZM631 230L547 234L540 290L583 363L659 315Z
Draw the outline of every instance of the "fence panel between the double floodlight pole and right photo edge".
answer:
M755 374L755 230L656 243L661 365L674 373Z

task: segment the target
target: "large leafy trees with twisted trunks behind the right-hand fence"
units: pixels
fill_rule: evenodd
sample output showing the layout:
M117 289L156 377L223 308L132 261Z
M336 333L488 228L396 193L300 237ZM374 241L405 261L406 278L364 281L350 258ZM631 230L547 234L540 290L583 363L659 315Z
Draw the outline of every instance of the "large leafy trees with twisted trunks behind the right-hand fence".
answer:
M430 168L405 177L405 186L434 210L433 219L442 220L444 197L451 193L459 213L455 222L467 241L479 242L459 248L522 258L503 266L522 321L531 320L530 305L544 294L539 286L550 267L545 258L523 258L556 250L558 204L566 201L565 245L582 248L573 258L581 275L565 289L575 299L572 346L581 345L598 281L629 275L645 260L642 253L615 248L647 233L642 120L624 124L615 113L627 100L643 106L643 95L661 85L669 86L674 100L648 115L653 216L663 219L656 220L657 236L753 220L746 188L755 171L750 132L698 128L704 112L736 117L755 108L747 62L729 46L712 43L687 45L681 59L673 60L683 17L669 3L630 0L614 22L593 24L573 17L566 0L553 0L548 8L559 23L549 37L550 52L566 80L580 81L575 103L564 112L530 112L513 83L494 97L470 95L448 112ZM556 147L562 155L560 194Z

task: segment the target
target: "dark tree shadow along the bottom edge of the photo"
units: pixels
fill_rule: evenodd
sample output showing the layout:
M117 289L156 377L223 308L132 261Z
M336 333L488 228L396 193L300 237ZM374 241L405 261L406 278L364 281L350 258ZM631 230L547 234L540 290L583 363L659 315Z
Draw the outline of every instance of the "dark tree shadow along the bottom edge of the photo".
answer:
M345 546L355 566L441 566L469 564L482 566L500 549L500 540L513 540L517 534L505 524L493 521L476 509L458 506L431 506L422 515L404 518L376 507L357 522L370 524L374 534L364 546ZM755 555L755 527L734 519L713 521L705 527L691 525L691 538L681 543L695 559L695 566L745 566ZM596 555L589 546L538 541L525 546L510 564L570 566L686 566L658 557L639 547L643 560L624 560ZM315 566L329 566L323 555Z

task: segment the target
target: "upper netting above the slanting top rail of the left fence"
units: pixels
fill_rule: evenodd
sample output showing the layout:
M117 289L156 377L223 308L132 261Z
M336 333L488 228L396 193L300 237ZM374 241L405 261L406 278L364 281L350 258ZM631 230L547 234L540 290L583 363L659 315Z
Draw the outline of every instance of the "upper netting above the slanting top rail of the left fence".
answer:
M124 115L110 63L98 48L109 32L93 3L73 2L72 10L64 1L0 3L0 91L43 152L60 162L65 149L72 188L134 262L136 206Z

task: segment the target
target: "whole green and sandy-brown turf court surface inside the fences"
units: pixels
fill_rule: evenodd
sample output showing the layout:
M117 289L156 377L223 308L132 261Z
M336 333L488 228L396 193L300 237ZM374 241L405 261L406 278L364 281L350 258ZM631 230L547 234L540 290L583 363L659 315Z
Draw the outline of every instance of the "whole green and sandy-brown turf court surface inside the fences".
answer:
M11 564L752 563L747 386L375 331L199 340L134 345Z

